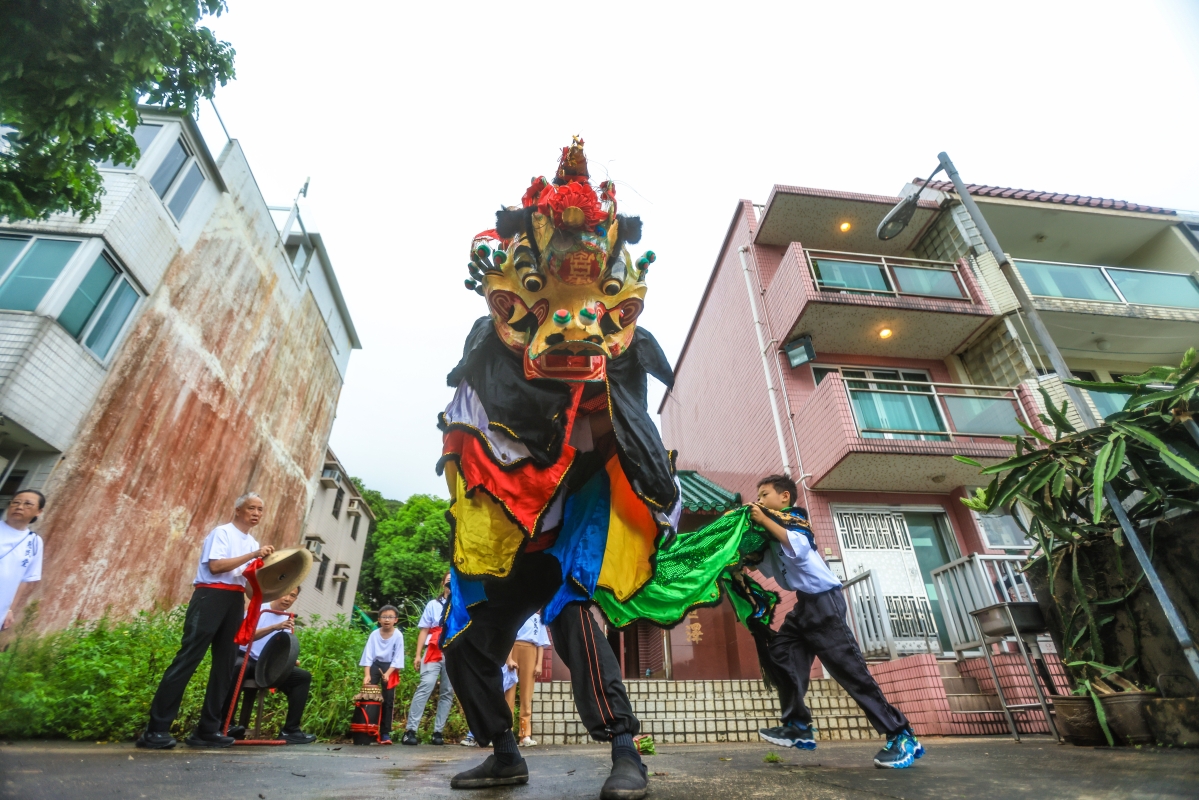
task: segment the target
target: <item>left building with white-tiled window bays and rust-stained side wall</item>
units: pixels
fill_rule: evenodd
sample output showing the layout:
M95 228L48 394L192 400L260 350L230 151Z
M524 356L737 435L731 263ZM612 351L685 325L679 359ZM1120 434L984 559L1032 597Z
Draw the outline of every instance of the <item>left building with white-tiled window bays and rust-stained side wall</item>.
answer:
M260 541L301 543L361 347L320 234L236 140L149 107L134 136L95 219L0 222L0 503L50 495L42 627L185 600L246 491ZM145 569L97 570L118 551Z

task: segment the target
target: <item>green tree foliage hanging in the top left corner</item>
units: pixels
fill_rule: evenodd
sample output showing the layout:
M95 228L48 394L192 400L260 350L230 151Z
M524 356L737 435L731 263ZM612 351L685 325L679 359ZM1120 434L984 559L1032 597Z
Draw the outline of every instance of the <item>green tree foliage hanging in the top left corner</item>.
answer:
M0 0L0 217L95 217L97 163L138 158L138 102L194 114L233 79L233 47L199 25L225 8L225 0Z

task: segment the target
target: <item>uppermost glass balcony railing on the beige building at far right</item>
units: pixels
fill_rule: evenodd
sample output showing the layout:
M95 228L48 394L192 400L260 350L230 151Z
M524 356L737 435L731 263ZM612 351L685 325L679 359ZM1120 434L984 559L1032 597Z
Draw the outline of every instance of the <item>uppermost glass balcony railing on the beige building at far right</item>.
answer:
M1017 260L1016 269L1038 297L1199 308L1199 283L1182 272L1025 260Z

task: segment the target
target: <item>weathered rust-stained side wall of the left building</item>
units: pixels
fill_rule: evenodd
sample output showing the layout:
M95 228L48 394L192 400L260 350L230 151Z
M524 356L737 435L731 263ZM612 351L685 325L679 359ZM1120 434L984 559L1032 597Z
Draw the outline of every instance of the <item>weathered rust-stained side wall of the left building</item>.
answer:
M301 537L342 379L241 149L229 187L114 361L55 470L38 626L185 601L200 543L263 495L263 543Z

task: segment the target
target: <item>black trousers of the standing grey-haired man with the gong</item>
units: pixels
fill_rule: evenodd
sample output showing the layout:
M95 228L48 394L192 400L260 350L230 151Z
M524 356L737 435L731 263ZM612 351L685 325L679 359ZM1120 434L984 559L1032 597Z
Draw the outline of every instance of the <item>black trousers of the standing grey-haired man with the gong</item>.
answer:
M233 643L245 614L246 595L225 589L197 588L187 603L183 618L183 640L175 660L167 667L153 700L150 703L149 730L170 732L170 724L179 716L183 691L195 668L204 661L204 654L212 648L212 670L209 687L204 693L204 710L195 727L200 733L216 733L224 723L221 711L233 685L233 664L237 658L237 645Z

